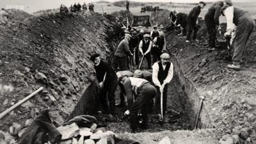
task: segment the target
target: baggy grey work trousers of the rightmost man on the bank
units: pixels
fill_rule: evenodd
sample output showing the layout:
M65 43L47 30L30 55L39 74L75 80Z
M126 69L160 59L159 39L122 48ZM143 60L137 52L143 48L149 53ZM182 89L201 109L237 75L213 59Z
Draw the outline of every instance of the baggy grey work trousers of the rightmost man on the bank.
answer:
M236 27L236 36L234 38L234 55L232 61L235 65L240 64L243 58L244 49L250 35L252 35L253 28L255 27L255 22L248 13L244 13L239 18L239 24Z

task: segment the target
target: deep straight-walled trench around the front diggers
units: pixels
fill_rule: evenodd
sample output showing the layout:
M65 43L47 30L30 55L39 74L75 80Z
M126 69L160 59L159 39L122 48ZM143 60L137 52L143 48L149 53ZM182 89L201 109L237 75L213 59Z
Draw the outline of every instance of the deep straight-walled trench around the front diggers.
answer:
M167 36L166 36L167 37ZM170 52L169 52L170 53ZM113 55L112 55L113 56ZM197 92L195 85L187 79L177 61L177 58L170 54L174 66L174 74L172 81L168 84L168 114L165 116L168 119L167 123L163 125L159 124L159 119L154 111L149 116L149 129L141 130L140 132L159 132L164 130L176 131L176 130L192 130L195 127L196 115L200 109L200 95ZM118 103L120 88L116 90L116 103ZM107 129L116 132L124 133L129 132L129 122L122 120L125 108L116 108L118 114L110 117L108 115L101 115L97 113L99 108L97 81L93 81L83 96L77 103L72 113L68 116L67 120L79 115L93 115L98 118L100 122L106 124ZM212 128L212 122L207 109L204 104L200 113L198 121L198 128Z

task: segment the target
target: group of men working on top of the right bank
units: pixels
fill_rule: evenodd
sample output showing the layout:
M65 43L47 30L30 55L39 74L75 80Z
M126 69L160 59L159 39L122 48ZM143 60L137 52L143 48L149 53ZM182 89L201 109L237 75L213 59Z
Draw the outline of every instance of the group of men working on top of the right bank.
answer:
M176 26L180 26L181 33L179 35L186 35L186 42L196 40L196 33L200 28L198 24L198 15L201 9L206 4L201 1L198 6L195 6L188 15L186 13L179 13L177 11L170 12L169 19ZM220 15L226 17L227 32L225 33L226 39L230 40L231 47L234 48L232 57L232 65L228 68L239 70L242 61L243 52L250 35L252 34L255 22L250 14L240 8L232 6L232 1L223 0L213 3L207 13L205 13L205 25L208 31L208 44L210 49L219 49L218 41L216 39L217 33L221 33ZM188 31L186 31L188 30Z

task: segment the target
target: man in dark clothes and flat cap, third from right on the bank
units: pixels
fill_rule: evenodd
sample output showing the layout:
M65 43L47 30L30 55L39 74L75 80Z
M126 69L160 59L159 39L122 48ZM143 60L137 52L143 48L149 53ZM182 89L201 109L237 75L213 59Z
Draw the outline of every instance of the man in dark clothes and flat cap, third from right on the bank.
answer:
M196 33L198 31L198 15L201 13L201 9L204 8L206 4L203 1L198 3L198 6L195 6L188 14L188 34L186 42L190 42L192 33L193 33L193 40L196 39Z

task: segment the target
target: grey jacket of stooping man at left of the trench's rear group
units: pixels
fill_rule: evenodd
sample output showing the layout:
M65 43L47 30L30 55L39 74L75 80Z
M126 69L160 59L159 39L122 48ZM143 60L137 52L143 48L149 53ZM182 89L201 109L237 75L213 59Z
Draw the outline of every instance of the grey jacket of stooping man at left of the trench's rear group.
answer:
M128 58L128 56L131 56L131 51L129 49L129 42L127 40L122 40L116 49L115 56L118 56L120 58Z

